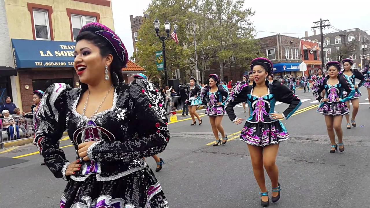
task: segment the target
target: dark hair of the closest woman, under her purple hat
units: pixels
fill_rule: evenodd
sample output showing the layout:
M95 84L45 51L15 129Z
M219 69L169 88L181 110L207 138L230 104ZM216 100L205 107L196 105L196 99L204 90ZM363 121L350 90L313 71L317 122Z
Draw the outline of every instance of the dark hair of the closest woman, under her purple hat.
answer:
M112 60L111 66L110 66L111 67L110 77L112 79L112 83L115 87L117 87L119 82L124 81L124 78L123 78L123 75L122 75L122 68L124 66L122 66L122 61L117 56L117 53L115 52L112 44L109 43L107 41L107 39L105 39L104 37L101 37L98 34L95 34L95 33L91 32L91 31L84 31L84 32L78 34L78 36L76 38L76 43L80 40L90 41L92 44L97 46L100 49L100 55L102 57L108 56L108 54L112 54L113 60ZM117 80L117 77L118 77L118 80ZM80 84L81 84L81 89L83 91L87 90L87 88L88 88L87 84L81 83L81 82L80 82Z

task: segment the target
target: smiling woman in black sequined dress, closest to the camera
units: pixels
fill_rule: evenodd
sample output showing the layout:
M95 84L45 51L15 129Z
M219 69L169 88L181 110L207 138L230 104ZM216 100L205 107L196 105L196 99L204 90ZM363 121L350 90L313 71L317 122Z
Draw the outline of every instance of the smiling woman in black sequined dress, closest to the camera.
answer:
M68 181L60 208L168 207L142 159L169 141L160 92L144 79L123 83L127 51L100 23L81 28L74 54L81 88L57 83L46 90L34 140L55 177ZM76 150L72 162L59 149L65 129Z

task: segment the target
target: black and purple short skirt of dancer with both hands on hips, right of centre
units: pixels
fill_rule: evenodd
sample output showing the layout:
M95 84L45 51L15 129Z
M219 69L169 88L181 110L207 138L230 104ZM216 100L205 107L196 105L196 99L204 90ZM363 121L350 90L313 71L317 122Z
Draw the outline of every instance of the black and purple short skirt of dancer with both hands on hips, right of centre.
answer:
M239 140L259 147L270 144L279 144L289 139L289 134L283 123L275 121L272 123L250 123L246 121L240 134Z

